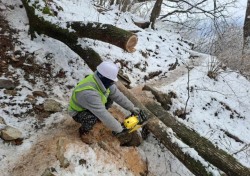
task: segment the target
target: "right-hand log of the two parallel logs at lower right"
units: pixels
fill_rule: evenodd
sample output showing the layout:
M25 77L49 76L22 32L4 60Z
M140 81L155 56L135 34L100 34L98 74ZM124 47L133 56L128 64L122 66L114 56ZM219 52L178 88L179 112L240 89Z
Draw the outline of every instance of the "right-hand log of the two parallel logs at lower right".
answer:
M156 90L147 86L147 89ZM161 93L159 93L160 95ZM166 126L173 129L176 135L188 146L194 148L200 156L213 164L220 170L230 176L248 176L250 169L240 164L234 157L225 151L215 147L212 142L201 137L195 131L187 128L184 124L178 122L175 117L169 114L156 102L146 102L144 104L155 116L157 116Z

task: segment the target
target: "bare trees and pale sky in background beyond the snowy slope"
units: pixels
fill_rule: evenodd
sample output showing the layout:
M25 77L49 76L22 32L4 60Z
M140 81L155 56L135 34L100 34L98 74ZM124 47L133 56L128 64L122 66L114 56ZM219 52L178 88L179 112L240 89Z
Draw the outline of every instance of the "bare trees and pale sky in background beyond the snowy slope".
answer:
M179 29L183 37L193 41L196 50L214 55L231 69L250 77L250 0L243 33L238 24L228 20L231 18L228 8L236 6L237 1L95 0L96 4L105 8L116 5L122 12L140 13L146 17L146 22L135 21L135 24L144 26L142 28L150 26L155 29L157 20L168 22L168 25Z

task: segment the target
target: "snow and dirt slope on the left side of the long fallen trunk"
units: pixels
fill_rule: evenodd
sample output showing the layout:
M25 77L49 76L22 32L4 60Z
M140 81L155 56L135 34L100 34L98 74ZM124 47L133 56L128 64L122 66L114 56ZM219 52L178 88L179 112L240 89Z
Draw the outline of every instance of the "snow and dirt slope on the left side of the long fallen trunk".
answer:
M121 148L110 131L100 124L92 133L94 137L90 136L93 145L86 145L78 138L78 125L66 114L66 109L71 89L78 80L91 71L62 43L46 36L37 36L35 40L30 40L26 25L28 21L22 4L12 3L6 1L5 4L1 4L3 14L9 20L11 28L16 29L16 33L11 35L17 38L17 42L13 43L15 47L8 49L11 57L6 60L7 72L3 72L2 78L16 81L17 85L14 88L15 94L6 94L5 90L1 90L1 95L5 98L1 99L3 108L0 114L8 125L22 132L23 141L16 143L21 145L15 146L15 143L6 143L0 139L0 158L3 163L0 168L1 173L40 175L46 168L54 168L53 174L58 175L171 173L166 170L167 168L159 169L154 164L156 161L161 163L166 159L159 158L156 153L160 151L152 150L155 148L154 145L146 145L147 153L141 148ZM6 29L3 31L6 32ZM21 57L14 53L21 53ZM2 56L5 56L5 53L2 53ZM134 55L129 56L131 60L130 57ZM15 58L15 61L11 58ZM39 96L35 95L36 91L40 92ZM43 103L47 98L60 102L63 111L54 114L44 111ZM127 112L117 113L117 109L112 111L115 117L127 115ZM65 152L65 156L71 162L68 169L60 168L56 158L56 143L61 137L68 139ZM146 155L151 155L150 158L153 159L147 159ZM173 156L172 159L175 160L174 163L178 162ZM79 161L86 163L79 165ZM161 167L161 164L158 166ZM150 171L149 168L154 168L154 171ZM178 170L177 173L180 172ZM181 172L188 171L182 169Z

